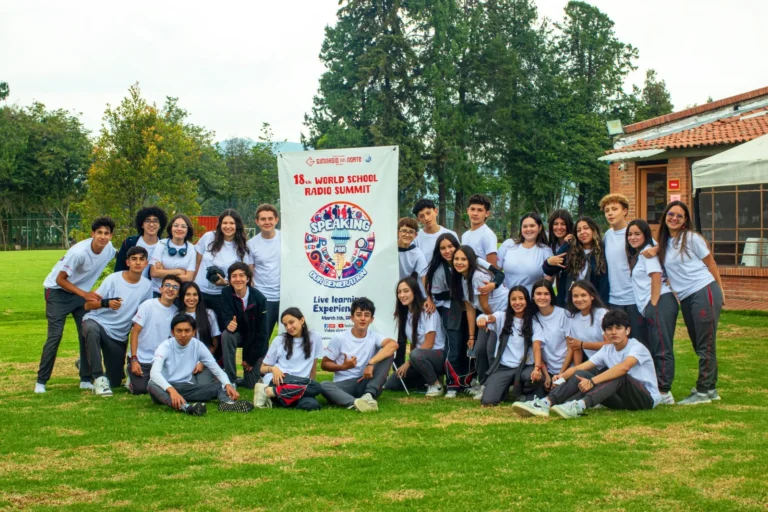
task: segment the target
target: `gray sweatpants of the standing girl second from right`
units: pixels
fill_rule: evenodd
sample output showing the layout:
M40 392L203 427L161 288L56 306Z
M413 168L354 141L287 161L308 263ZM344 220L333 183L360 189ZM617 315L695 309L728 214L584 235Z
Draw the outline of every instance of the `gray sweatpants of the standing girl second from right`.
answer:
M674 337L675 323L679 307L674 293L664 293L659 297L655 306L648 302L643 316L648 324L648 344L653 365L656 367L656 378L659 381L659 391L667 393L672 389L675 380Z

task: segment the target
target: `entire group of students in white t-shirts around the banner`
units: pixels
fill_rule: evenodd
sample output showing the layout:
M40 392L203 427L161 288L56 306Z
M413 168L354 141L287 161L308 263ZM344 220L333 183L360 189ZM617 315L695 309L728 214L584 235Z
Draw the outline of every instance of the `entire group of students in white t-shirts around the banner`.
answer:
M500 247L486 225L490 206L483 195L469 199L470 229L459 243L438 224L434 203L419 200L416 219L398 222L396 339L370 328L376 307L363 297L350 306L352 327L325 348L297 308L278 317L273 206L257 209L261 231L251 240L228 209L194 245L187 216L167 222L161 209L144 208L136 215L138 235L125 240L115 272L92 292L115 255L114 223L98 218L91 238L74 245L45 280L48 338L35 392L46 391L71 314L81 388L111 396L127 378L131 393L193 415L214 399L222 411L250 411L254 404L239 400L238 387L253 388L259 408L316 410L322 395L368 412L378 410L383 389L405 388L426 389L428 397L467 394L487 406L513 399L521 415L548 415L551 407L576 417L598 404L649 409L675 403L679 300L699 356L696 387L679 403L719 400L722 287L684 203L665 209L658 244L645 221L627 222L626 197L610 194L600 203L610 225L605 236L593 219L574 223L556 210L548 233L529 213L517 238ZM278 320L284 332L270 345ZM334 374L331 381L315 380L318 361Z

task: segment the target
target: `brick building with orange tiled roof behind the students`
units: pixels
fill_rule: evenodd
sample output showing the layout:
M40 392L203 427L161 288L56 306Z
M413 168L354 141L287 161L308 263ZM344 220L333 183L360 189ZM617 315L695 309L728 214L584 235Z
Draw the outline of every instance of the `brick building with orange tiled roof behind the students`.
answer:
M629 217L645 219L658 232L669 201L688 204L696 229L715 256L726 302L757 300L761 304L754 306L765 309L768 180L694 193L691 166L768 134L768 87L631 124L623 131L600 160L610 163L611 192L629 198Z

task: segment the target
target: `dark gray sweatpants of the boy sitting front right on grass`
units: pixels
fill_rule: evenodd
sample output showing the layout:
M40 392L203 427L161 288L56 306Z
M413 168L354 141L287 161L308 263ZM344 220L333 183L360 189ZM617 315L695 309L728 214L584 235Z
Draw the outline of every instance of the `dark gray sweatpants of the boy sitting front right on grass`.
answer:
M639 411L642 409L653 409L653 398L645 389L643 383L629 374L622 375L618 379L601 382L588 392L583 393L579 389L579 379L591 379L597 373L590 373L586 370L577 370L576 374L565 381L565 384L557 386L549 394L549 400L552 405L562 404L571 400L584 400L587 407L594 407L597 404L603 404L610 409L626 409L628 411Z

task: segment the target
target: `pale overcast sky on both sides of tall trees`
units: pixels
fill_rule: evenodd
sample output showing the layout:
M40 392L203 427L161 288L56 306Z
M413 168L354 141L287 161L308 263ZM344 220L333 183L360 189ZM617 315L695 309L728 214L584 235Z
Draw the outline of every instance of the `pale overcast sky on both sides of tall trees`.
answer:
M566 3L537 5L560 20ZM656 69L676 110L768 86L768 1L591 3L638 48L632 80L641 85ZM0 0L0 81L10 85L9 103L80 112L94 132L107 103L138 81L150 101L177 96L218 140L256 139L266 121L276 139L298 141L337 9L337 0Z

